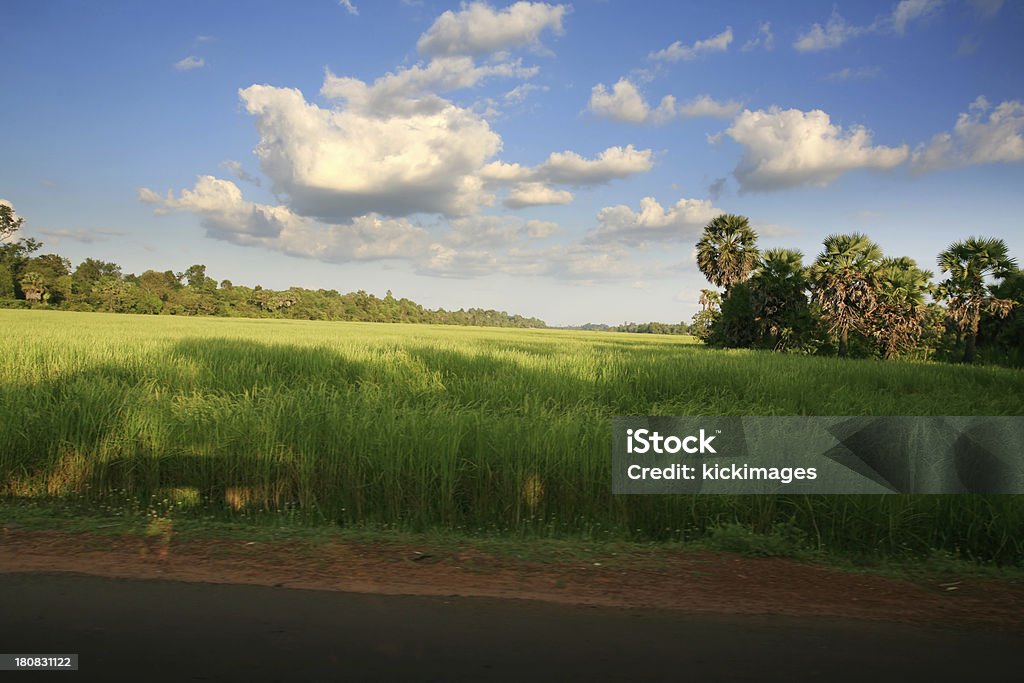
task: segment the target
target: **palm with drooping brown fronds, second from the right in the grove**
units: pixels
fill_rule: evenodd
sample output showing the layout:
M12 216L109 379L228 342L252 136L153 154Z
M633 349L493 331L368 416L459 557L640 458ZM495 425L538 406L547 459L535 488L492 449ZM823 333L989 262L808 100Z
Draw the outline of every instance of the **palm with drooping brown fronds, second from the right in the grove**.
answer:
M928 314L925 296L932 290L932 272L922 270L912 258L883 259L879 267L878 306L872 335L886 358L913 348L924 332Z

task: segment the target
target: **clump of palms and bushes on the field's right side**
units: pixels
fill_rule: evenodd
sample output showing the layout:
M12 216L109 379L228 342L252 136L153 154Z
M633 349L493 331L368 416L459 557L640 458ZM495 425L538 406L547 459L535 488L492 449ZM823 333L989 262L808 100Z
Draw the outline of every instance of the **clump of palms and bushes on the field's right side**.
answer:
M718 347L1024 365L1024 271L1002 240L954 242L936 260L886 256L866 234L829 234L810 265L796 249L757 245L744 216L705 226L691 333Z

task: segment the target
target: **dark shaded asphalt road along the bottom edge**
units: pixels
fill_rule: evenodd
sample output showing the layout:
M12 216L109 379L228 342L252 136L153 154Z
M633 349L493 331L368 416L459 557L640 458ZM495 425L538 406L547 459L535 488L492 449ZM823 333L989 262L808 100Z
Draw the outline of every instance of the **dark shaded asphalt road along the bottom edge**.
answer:
M1024 636L873 622L0 573L43 681L1011 681ZM4 673L0 673L3 677Z

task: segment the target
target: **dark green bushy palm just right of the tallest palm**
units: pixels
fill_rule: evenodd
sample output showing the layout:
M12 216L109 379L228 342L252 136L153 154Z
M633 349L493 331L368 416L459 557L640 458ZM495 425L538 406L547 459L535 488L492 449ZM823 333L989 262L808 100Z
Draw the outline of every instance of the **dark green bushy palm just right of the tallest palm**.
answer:
M798 249L769 249L751 285L762 334L770 335L772 346L781 350L808 306L804 254Z

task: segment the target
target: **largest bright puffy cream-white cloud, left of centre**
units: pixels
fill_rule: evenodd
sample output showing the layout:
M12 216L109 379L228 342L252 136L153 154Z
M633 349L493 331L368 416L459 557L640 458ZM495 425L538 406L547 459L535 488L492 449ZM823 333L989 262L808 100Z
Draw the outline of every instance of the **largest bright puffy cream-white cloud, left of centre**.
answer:
M344 80L357 89L355 79ZM324 89L339 94L330 75ZM476 174L501 137L470 110L436 96L423 111L415 100L373 96L326 110L296 89L268 85L240 95L256 117L260 168L299 215L327 222L368 213L465 215L492 202Z

